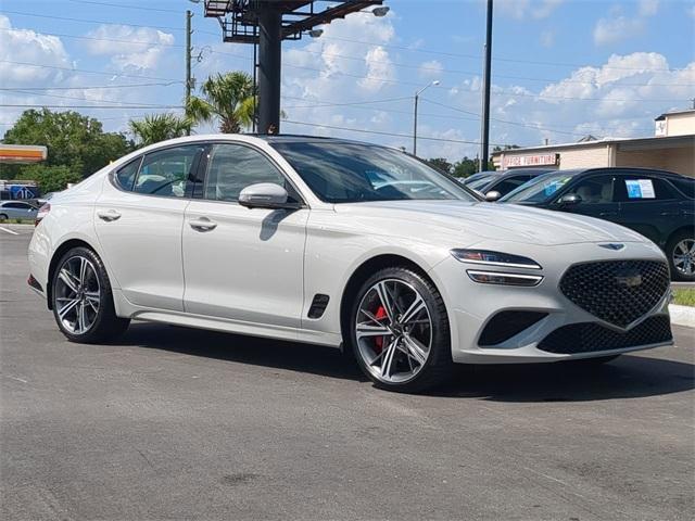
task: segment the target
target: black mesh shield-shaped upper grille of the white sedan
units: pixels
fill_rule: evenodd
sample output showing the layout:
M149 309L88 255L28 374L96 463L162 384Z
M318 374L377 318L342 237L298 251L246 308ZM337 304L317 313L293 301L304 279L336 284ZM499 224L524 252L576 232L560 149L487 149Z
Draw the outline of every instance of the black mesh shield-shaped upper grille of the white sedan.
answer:
M577 264L560 280L567 298L621 328L649 313L668 289L668 267L657 260Z

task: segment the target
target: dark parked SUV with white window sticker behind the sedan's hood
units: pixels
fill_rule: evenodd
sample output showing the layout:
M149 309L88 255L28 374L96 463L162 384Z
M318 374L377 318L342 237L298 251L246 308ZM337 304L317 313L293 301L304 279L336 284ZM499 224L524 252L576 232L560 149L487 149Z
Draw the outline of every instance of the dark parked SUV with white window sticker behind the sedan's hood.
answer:
M611 220L666 252L671 276L695 281L695 179L646 168L589 168L545 174L500 202Z

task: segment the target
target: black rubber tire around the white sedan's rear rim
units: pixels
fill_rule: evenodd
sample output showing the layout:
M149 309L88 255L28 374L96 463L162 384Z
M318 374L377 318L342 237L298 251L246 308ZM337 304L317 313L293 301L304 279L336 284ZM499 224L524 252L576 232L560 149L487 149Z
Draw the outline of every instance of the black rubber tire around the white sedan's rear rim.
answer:
M71 331L60 319L59 305L56 302L56 300L59 298L56 283L59 280L61 268L68 260L73 260L76 257L84 257L91 263L91 265L94 267L100 289L99 310L96 314L93 322L91 323L89 329L79 334ZM83 344L97 344L100 342L108 342L123 334L130 325L130 319L119 318L116 316L115 307L113 304L113 293L111 291L111 282L109 281L106 269L104 268L101 258L99 258L99 255L97 255L92 250L88 247L73 247L61 257L55 267L53 280L51 280L51 289L53 317L55 318L55 322L58 323L61 332L71 342L78 342Z

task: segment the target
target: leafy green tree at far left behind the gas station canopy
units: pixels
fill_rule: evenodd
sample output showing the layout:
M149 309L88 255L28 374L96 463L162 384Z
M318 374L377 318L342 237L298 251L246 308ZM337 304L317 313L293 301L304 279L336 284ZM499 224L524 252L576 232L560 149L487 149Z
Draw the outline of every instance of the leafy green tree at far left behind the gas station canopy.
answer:
M48 147L48 166L63 165L87 177L131 150L122 134L104 132L101 122L74 111L28 110L3 138L8 144ZM24 176L26 167L14 170Z

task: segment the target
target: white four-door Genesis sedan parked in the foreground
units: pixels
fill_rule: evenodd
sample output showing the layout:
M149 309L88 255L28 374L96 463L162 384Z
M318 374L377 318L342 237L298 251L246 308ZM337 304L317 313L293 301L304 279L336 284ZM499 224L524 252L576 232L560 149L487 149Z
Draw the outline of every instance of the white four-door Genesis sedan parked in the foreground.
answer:
M308 342L350 350L395 391L437 384L455 364L605 361L672 343L655 244L482 202L383 147L180 138L42 212L29 284L75 342L131 319Z

